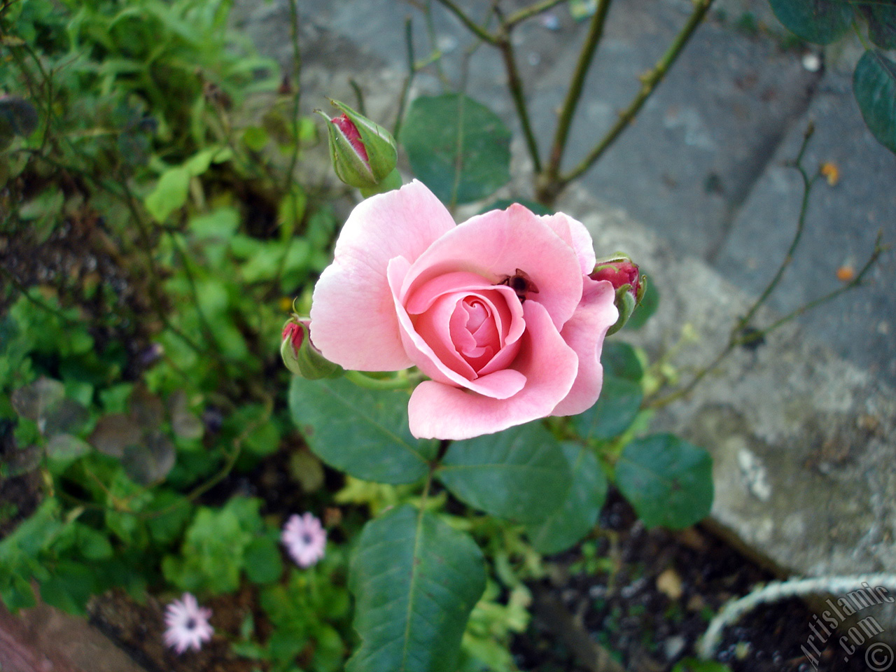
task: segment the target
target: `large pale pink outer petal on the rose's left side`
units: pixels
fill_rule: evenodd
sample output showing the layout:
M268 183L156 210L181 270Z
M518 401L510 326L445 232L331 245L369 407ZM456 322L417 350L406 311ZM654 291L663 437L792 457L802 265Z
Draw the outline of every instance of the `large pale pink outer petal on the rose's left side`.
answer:
M413 262L453 228L451 214L416 180L359 203L314 287L311 340L323 356L359 371L410 366L386 269L395 257Z

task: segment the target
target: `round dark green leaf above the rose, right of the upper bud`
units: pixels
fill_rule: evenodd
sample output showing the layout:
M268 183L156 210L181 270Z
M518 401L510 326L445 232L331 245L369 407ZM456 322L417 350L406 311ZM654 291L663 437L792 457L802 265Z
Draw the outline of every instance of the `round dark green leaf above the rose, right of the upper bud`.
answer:
M510 131L460 93L415 99L401 144L414 175L448 204L486 198L510 180Z

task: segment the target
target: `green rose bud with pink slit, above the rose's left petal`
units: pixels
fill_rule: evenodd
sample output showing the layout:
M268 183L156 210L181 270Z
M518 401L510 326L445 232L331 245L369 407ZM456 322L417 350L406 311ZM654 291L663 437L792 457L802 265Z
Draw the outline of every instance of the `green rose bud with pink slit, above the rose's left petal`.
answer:
M342 110L340 116L328 118L327 124L336 177L358 187L365 195L400 187L401 176L395 169L398 153L392 134L338 100L332 100L332 104Z

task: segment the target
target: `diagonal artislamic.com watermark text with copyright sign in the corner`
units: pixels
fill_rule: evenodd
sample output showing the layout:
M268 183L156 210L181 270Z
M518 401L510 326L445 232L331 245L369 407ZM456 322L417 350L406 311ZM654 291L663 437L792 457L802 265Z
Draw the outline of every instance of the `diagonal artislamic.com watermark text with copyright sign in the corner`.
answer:
M865 645L865 663L871 672L885 672L893 667L893 650L886 642L872 642L874 637L883 633L883 627L874 616L865 616L857 620L855 625L842 630L841 626L849 616L859 615L861 612L884 602L896 602L890 592L883 586L871 586L862 582L862 587L852 590L842 597L827 599L825 603L829 609L825 609L821 616L813 614L809 629L812 631L806 637L806 643L800 648L806 655L806 659L813 668L818 669L822 657L822 650L829 642L836 643L836 655L844 660L849 660L857 650ZM841 628L841 632L838 631Z

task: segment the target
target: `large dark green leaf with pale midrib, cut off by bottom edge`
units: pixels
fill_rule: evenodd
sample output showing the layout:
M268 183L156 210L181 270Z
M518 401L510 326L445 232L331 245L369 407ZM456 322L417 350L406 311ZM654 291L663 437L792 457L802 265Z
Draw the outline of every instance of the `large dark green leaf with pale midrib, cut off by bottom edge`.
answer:
M349 569L362 644L346 672L454 672L485 587L474 541L432 513L405 504L368 522Z

